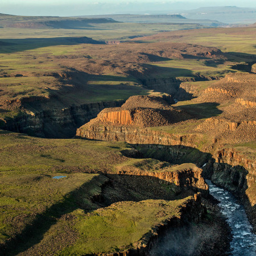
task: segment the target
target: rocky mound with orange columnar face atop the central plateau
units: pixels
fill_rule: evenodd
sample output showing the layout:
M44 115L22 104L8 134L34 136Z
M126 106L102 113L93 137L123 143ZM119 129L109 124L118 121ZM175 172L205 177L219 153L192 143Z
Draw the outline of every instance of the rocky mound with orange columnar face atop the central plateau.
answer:
M109 126L114 125L119 127L119 129L125 126L152 127L170 125L188 117L187 113L168 105L164 97L132 96L121 108L102 110L97 118L93 119L90 126L102 127L104 124L109 124Z

